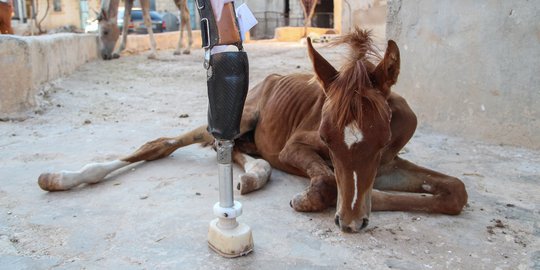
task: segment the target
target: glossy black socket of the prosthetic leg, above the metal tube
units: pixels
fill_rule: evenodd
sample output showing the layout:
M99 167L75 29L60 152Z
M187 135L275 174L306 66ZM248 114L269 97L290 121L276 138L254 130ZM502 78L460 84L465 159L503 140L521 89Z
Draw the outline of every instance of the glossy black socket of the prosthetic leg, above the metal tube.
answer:
M216 139L233 140L248 92L249 67L243 51L222 52L210 59L208 77L208 131Z

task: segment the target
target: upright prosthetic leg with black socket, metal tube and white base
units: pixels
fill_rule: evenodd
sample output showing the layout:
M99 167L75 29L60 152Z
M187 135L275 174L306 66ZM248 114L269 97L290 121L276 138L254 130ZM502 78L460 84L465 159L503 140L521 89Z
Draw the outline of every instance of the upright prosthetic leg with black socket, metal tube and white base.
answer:
M212 6L212 2L221 2L222 6ZM236 221L242 214L242 204L234 201L232 177L234 139L240 134L248 91L248 59L232 1L197 0L197 8L208 72L208 131L216 139L219 172L219 202L214 205L217 218L210 222L208 245L224 257L238 257L253 250L251 229ZM234 45L238 51L216 53L226 45Z

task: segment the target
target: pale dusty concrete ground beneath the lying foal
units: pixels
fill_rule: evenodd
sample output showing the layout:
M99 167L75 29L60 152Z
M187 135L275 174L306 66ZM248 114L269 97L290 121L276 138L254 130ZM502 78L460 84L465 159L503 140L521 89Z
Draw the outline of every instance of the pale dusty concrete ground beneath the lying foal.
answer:
M311 69L298 43L247 52L252 85ZM72 191L38 187L42 172L111 160L204 124L202 59L194 50L94 61L46 85L33 117L0 122L0 269L540 269L540 152L426 129L403 156L465 182L461 215L375 212L365 231L346 234L335 209L294 212L289 200L308 182L275 170L262 190L235 197L255 241L237 259L206 243L218 200L211 149L189 146Z

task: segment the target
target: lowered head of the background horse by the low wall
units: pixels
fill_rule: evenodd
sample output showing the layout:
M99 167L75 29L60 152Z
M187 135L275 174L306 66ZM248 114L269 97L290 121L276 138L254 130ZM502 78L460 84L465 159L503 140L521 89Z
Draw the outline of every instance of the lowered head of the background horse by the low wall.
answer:
M113 50L120 36L120 29L116 22L117 13L112 10L101 9L98 15L99 49L104 60L113 58Z

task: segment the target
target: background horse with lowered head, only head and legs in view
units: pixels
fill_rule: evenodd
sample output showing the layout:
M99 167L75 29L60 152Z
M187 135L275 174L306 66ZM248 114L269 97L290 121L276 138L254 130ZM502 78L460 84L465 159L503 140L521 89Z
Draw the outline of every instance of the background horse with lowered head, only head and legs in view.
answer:
M116 41L120 36L120 30L118 29L117 24L119 0L103 0L101 2L101 9L98 15L98 25L101 57L104 60L120 57L120 52L126 48L128 24L131 18L133 1L134 0L126 0L124 22L122 27L122 43L120 43L120 47L118 47L118 50L116 51L114 48L116 46ZM150 19L150 1L140 0L140 3L143 12L144 24L150 39L150 48L152 51L148 58L154 59L157 56L157 52L156 40L152 30L152 21ZM191 23L189 18L189 9L187 7L187 0L174 0L174 4L180 10L180 38L178 40L178 44L176 45L174 55L180 55L181 53L189 54L191 52L191 45L193 44L193 36L191 33ZM182 51L184 29L187 31L187 47Z

